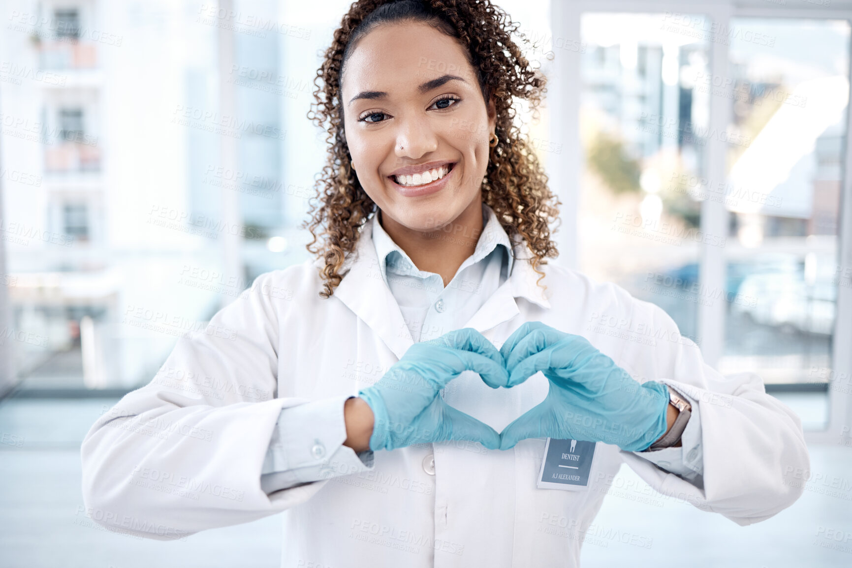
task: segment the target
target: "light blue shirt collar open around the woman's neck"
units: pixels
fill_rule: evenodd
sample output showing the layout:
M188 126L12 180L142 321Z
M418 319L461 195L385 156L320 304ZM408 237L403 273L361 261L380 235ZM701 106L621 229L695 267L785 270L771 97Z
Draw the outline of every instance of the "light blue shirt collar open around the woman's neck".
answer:
M412 262L412 259L406 254L406 251L400 249L400 246L394 243L394 239L390 238L388 232L386 232L384 227L382 227L382 224L378 222L378 213L372 216L370 222L372 240L376 246L379 272L382 274L382 278L386 283L388 282L388 270L393 273L417 276L419 278L425 278L428 275L428 273L418 270L414 265L414 262ZM506 234L503 226L500 225L500 221L494 213L494 210L484 203L482 204L482 226L482 234L476 242L474 254L470 255L469 258L462 263L461 267L458 267L458 272L461 272L464 268L467 268L481 261L487 255L490 255L492 251L498 247L498 245L503 245L506 256L509 258L507 274L510 275L512 273L512 265L515 259L512 255L512 245L509 241L509 235ZM452 236L452 233L447 233L447 235Z

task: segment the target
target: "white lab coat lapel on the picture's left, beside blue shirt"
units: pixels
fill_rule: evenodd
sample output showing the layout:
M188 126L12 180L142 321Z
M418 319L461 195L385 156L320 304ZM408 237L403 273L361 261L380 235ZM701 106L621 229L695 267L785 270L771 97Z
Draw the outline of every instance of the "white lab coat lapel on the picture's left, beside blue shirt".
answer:
M384 341L397 359L401 359L414 340L402 318L400 306L382 278L370 223L361 229L355 255L348 263L349 271L332 297L343 301Z

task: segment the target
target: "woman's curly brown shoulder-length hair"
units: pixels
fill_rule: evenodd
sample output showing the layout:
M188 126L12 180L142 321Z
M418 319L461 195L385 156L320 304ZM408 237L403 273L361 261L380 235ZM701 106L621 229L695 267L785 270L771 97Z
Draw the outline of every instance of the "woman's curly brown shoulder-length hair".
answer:
M559 215L560 201L550 192L547 175L527 135L514 123L514 97L526 99L535 118L546 92L546 78L512 41L511 34L518 33L528 43L517 32L519 25L490 0L358 0L343 16L331 47L325 50L325 60L314 78L316 102L308 112L308 118L325 129L328 144L328 159L315 186L317 195L310 201L311 219L302 224L314 236L306 245L308 251L325 259L320 296L330 297L340 284L340 270L354 251L360 227L377 210L351 165L343 130L343 67L360 37L383 23L404 21L422 21L455 37L477 72L486 102L494 97L498 143L490 149L483 201L494 210L510 239L514 241L520 234L525 240L540 281L544 273L539 265L547 264L546 257L558 255L556 243L550 239L550 223Z

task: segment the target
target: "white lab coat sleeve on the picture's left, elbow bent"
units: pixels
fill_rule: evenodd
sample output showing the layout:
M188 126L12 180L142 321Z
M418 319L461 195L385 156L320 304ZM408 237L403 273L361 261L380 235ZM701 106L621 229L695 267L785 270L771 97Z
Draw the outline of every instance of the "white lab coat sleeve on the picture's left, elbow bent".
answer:
M181 336L152 382L124 396L83 439L86 513L108 529L170 540L306 502L326 480L267 495L261 468L283 408L276 306L264 273ZM282 330L286 333L285 330Z

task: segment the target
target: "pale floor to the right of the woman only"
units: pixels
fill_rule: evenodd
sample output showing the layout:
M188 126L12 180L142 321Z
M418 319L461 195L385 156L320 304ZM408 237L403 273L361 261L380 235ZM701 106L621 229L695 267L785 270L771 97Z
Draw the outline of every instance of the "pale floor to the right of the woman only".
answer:
M636 489L607 496L583 546L584 566L659 566L673 562L724 568L823 568L852 566L852 448L812 446L811 470L826 482L810 483L792 507L771 519L740 526L717 513L705 513L668 498L649 503L646 485L621 467L622 485ZM838 479L838 481L835 481ZM630 485L633 482L636 485ZM844 491L832 490L831 484ZM839 496L826 493L837 491ZM621 497L621 498L619 498ZM820 533L820 527L825 530ZM607 533L607 529L613 529ZM826 538L829 530L832 538ZM613 534L620 531L621 534ZM838 533L843 542L836 542ZM596 534L603 535L593 538ZM643 548L642 545L648 545ZM837 544L838 549L831 547ZM843 546L849 552L843 552Z

